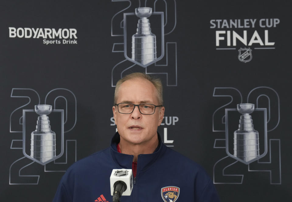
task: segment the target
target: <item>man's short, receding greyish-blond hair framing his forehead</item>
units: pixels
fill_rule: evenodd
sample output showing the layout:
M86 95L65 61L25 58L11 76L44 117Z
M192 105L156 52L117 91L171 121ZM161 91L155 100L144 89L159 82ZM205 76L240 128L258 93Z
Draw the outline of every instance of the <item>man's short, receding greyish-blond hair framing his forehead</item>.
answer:
M117 101L117 92L119 91L120 86L122 85L123 82L130 80L130 79L135 79L135 78L142 78L150 81L156 88L157 92L157 99L158 99L158 105L163 105L163 97L162 97L162 82L159 78L152 78L149 75L145 73L140 73L140 72L135 72L129 75L126 75L125 77L121 78L117 83L116 83L116 89L115 89L115 97L114 97L114 104L116 104Z

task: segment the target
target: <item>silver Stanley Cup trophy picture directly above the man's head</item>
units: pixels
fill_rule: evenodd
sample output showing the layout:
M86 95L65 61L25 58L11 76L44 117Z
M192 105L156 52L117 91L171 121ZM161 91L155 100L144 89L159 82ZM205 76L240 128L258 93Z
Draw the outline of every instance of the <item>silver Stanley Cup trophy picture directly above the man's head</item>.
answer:
M156 36L151 33L147 19L152 14L152 8L137 8L135 13L140 19L137 33L132 36L132 59L141 64L148 64L156 59Z

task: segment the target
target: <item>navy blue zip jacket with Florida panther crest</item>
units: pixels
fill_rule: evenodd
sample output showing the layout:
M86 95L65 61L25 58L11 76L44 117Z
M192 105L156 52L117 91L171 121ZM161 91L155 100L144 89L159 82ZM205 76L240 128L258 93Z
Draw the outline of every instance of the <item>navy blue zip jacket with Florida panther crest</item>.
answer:
M121 202L219 201L212 180L197 163L161 141L152 154L140 154L131 196ZM54 202L112 202L109 177L113 169L132 169L133 155L117 152L120 135L111 146L75 162L58 186Z

